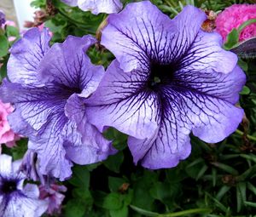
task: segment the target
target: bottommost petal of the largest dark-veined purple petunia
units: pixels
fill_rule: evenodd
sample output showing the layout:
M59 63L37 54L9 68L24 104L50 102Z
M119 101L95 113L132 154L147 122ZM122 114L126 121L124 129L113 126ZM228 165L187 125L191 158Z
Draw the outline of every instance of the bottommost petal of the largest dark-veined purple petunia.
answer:
M172 168L189 157L191 146L189 131L179 128L174 120L160 123L159 130L146 140L130 137L128 146L134 163L140 161L145 168Z

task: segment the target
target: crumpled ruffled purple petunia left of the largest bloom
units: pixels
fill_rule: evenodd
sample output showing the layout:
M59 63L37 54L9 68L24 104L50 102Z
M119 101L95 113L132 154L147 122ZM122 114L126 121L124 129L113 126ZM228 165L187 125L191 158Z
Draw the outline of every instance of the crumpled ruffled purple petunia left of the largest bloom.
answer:
M10 50L8 81L1 98L15 104L9 124L29 137L28 148L38 154L38 170L65 180L74 163L102 161L114 153L111 143L87 120L82 99L92 94L104 69L90 63L90 36L67 37L49 48L49 34L27 31Z

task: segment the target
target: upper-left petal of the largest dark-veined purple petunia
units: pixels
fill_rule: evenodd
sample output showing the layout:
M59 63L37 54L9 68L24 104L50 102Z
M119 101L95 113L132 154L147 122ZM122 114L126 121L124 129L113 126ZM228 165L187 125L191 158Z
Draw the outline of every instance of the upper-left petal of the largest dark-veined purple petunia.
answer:
M109 15L102 45L125 72L132 71L168 53L175 31L174 22L149 1L130 3L119 14Z

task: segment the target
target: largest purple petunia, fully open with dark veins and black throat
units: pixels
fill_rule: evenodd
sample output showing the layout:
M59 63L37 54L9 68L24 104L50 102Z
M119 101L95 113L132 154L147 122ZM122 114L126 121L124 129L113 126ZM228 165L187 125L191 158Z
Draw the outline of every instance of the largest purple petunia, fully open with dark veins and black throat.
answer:
M189 134L218 142L234 132L234 106L245 83L236 54L218 33L201 30L206 15L187 6L173 20L149 1L110 14L102 45L116 56L87 100L90 122L129 134L134 162L171 168L189 156ZM91 107L90 107L91 106Z

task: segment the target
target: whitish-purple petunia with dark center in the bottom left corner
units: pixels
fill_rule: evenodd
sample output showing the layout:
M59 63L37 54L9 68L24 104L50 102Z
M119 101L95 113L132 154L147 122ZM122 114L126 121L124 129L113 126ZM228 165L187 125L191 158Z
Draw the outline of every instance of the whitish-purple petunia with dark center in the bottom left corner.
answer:
M0 155L0 216L36 217L44 214L48 201L39 200L38 186L26 184L25 175L19 172L20 161Z

